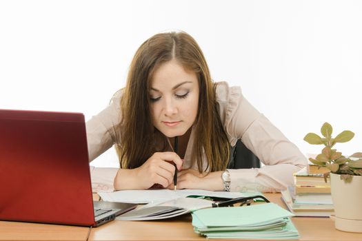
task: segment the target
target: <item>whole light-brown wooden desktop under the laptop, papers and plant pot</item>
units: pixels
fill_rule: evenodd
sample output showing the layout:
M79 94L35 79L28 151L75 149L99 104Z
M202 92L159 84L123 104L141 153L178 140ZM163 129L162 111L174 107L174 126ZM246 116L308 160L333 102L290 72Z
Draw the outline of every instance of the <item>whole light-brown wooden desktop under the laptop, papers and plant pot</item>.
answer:
M285 208L280 193L265 196ZM329 218L292 218L292 221L301 235L300 240L362 240L362 233L334 229L334 222ZM0 221L0 240L87 240L89 232L88 240L206 240L194 233L190 215L148 222L115 220L92 229Z

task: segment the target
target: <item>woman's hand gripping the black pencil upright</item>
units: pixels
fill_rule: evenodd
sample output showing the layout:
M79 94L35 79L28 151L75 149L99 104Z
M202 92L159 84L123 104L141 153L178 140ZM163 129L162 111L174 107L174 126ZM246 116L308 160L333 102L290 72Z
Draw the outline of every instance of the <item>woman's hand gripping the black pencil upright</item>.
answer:
M154 184L162 187L173 185L174 163L177 169L182 167L181 158L174 152L156 152L135 169L119 169L114 187L121 189L149 189Z

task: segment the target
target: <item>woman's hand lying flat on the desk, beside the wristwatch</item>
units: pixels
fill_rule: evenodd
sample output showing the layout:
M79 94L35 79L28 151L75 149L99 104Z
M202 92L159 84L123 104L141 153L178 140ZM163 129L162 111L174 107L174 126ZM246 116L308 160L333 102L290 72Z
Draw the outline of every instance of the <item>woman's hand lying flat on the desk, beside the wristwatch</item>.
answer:
M203 189L210 191L222 191L223 181L221 174L223 171L214 171L209 174L199 173L194 169L179 171L177 174L177 189ZM173 189L172 186L168 187Z

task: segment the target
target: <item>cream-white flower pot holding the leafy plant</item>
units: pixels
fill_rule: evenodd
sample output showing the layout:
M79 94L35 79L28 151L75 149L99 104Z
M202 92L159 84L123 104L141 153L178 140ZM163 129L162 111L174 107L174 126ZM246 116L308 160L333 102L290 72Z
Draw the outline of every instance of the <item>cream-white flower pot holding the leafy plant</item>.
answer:
M330 174L334 205L334 226L347 232L362 233L362 176L353 176L351 182L341 175Z

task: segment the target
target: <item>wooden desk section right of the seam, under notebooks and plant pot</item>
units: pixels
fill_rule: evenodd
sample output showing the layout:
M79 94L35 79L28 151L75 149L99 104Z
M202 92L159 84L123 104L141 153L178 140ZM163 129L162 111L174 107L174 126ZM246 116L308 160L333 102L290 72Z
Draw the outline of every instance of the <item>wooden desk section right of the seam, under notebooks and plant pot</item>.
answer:
M285 208L281 194L265 194ZM346 233L334 228L330 218L292 218L300 240L362 240L362 233ZM206 240L193 231L191 216L163 221L113 221L92 229L89 240Z

